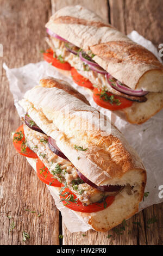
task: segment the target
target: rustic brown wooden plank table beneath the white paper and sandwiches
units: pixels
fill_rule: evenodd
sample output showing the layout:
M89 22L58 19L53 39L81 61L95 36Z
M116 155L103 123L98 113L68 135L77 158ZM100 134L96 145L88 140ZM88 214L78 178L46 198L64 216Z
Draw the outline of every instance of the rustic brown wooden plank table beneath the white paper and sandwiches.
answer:
M45 23L54 11L66 4L78 3L95 10L123 33L127 34L135 29L152 40L157 47L163 42L161 0L0 0L0 43L4 48L4 57L0 57L0 186L3 187L3 198L0 198L0 244L162 245L163 204L153 205L130 218L122 235L117 235L112 230L108 233L89 230L85 233L86 236L80 232L70 233L62 223L47 187L36 178L33 169L12 146L11 132L21 121L14 107L2 63L6 62L9 68L16 68L41 60L40 50L47 47L43 40L46 35ZM153 216L158 221L147 228L147 222ZM9 232L12 221L15 228ZM22 241L23 231L30 234L26 243ZM59 240L60 234L64 235L62 240Z

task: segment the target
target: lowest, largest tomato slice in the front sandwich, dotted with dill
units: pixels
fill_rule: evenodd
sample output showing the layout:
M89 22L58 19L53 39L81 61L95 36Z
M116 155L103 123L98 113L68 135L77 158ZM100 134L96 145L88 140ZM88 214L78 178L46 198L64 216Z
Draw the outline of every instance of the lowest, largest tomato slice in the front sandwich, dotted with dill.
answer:
M61 187L64 187L62 184ZM67 200L64 200L66 199ZM70 200L68 200L70 198ZM84 206L79 199L77 199L76 195L71 192L68 188L65 188L60 195L60 199L62 200L62 203L69 209L73 211L80 211L80 212L96 212L96 211L102 211L106 208L108 208L109 205L111 205L114 202L115 197L106 197L105 201L102 203L93 203L87 206ZM74 202L72 202L74 201Z

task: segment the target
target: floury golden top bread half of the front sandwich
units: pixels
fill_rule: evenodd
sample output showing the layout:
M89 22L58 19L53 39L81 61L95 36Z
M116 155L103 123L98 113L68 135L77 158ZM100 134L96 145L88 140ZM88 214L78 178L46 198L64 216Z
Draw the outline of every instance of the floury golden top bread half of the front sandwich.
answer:
M73 165L93 183L145 184L146 172L140 157L116 127L102 114L99 116L95 108L84 103L83 95L80 95L75 95L72 89L68 92L64 81L47 77L40 80L40 86L29 90L20 104L35 123L55 139ZM65 112L65 107L69 112ZM105 126L101 123L98 127L102 119ZM76 150L74 145L87 150Z

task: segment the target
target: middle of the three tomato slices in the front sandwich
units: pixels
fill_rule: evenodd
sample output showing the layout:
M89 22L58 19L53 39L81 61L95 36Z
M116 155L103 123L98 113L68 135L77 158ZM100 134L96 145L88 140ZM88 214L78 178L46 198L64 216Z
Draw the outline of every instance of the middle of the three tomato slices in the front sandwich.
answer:
M37 176L41 181L46 183L49 186L60 187L62 184L54 178L53 174L51 174L47 167L42 163L42 161L38 158L36 162L36 170Z

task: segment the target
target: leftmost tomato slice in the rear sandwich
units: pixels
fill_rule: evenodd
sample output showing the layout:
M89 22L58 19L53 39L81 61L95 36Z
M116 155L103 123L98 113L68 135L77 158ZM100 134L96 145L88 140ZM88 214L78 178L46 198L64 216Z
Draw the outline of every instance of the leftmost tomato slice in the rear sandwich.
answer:
M58 69L71 70L71 65L68 62L64 62L64 60L60 62L58 58L53 57L52 48L49 48L45 53L43 53L43 58L46 60L46 62L52 63L52 65Z

